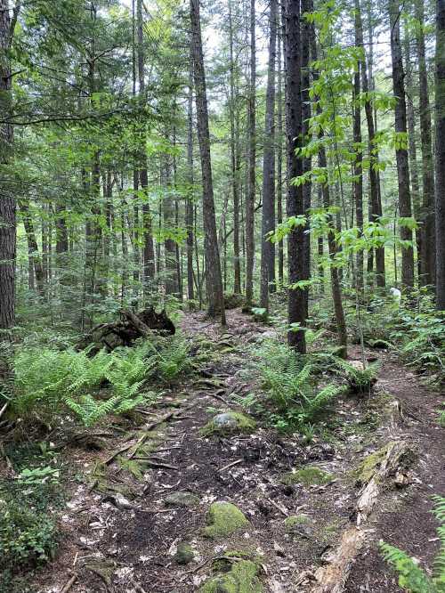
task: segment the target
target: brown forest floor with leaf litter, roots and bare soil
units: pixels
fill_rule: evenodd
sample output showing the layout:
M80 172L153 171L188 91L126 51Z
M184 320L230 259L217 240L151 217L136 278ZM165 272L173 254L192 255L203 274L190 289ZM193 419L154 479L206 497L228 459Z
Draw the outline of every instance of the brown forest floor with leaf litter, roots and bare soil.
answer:
M380 539L431 566L439 546L431 495L445 492L439 394L426 390L391 353L374 350L368 355L378 357L382 367L373 394L337 401L323 438L305 443L300 435L279 435L263 426L251 435L204 437L199 429L215 413L239 410L237 397L258 388L247 352L273 330L238 309L228 312L224 331L202 313L185 315L182 330L208 349L204 372L146 410L146 424L131 435L110 426L63 452L72 481L60 519L61 544L53 561L36 573L37 590L197 591L214 573L214 559L228 553L255 556L264 591L316 590L317 568L330 562L355 521L359 488L353 470L392 441L407 442L417 460L408 483L384 489L376 500L344 590L401 590L379 555ZM352 347L350 358L360 360L359 350ZM330 477L319 484L283 483L295 467L320 467ZM168 504L167 497L184 491L198 498L186 497L190 506ZM203 537L214 501L235 504L246 526L230 537ZM302 515L302 524L287 521ZM185 565L177 556L183 542L193 551Z

